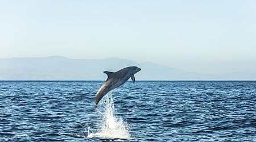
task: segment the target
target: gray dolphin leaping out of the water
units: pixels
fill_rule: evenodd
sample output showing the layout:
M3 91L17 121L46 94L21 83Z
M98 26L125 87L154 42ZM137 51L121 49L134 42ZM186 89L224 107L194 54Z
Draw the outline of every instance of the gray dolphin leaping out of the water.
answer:
M129 78L135 82L134 74L138 73L141 69L137 66L129 66L123 68L115 73L105 71L108 75L108 79L104 82L104 84L98 90L95 96L95 108L97 108L98 102L100 102L101 98L104 97L109 91L123 85Z

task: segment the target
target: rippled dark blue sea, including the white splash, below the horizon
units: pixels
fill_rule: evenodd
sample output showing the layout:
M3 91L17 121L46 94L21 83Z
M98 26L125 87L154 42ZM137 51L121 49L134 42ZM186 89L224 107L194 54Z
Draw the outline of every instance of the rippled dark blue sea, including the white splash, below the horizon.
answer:
M0 141L256 141L255 81L0 81Z

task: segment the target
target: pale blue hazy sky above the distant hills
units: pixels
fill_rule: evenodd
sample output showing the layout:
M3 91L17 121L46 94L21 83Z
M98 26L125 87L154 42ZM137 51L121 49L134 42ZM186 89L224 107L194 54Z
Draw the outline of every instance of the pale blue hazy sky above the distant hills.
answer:
M0 59L116 57L256 72L256 1L0 1Z

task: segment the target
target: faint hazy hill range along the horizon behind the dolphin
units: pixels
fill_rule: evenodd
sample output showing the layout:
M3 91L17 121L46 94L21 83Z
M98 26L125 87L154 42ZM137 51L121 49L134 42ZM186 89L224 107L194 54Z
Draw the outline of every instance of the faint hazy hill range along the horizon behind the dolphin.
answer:
M60 56L0 59L0 80L106 80L103 72L138 66L136 80L256 80L255 72L203 74L185 72L152 62L117 58L85 60Z

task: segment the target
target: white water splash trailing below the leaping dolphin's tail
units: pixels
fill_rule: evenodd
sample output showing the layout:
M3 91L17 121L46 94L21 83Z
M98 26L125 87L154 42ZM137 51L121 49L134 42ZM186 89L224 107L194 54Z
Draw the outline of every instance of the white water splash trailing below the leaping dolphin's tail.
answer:
M121 118L114 116L112 91L102 98L100 106L102 106L102 110L100 110L100 107L97 109L101 118L98 122L98 131L96 133L88 131L87 137L131 139L129 126Z

